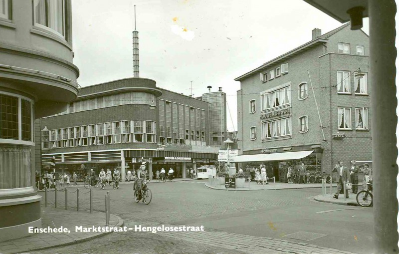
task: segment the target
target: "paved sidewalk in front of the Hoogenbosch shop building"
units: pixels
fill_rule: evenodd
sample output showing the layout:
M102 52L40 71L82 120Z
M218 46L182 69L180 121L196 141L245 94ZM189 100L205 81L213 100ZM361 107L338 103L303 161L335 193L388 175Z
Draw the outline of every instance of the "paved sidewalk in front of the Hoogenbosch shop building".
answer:
M216 182L217 183L217 182ZM280 183L273 181L268 181L267 185L257 185L255 181L251 181L250 183L244 183L243 188L225 188L224 184L210 184L209 182L205 183L205 186L210 189L215 190L227 190L227 191L259 191L259 190L285 190L285 189L305 189L305 188L321 188L320 183L316 184L289 184L289 183ZM337 184L333 184L333 191L337 187ZM327 192L330 191L330 185L327 185ZM320 189L321 193L321 189Z

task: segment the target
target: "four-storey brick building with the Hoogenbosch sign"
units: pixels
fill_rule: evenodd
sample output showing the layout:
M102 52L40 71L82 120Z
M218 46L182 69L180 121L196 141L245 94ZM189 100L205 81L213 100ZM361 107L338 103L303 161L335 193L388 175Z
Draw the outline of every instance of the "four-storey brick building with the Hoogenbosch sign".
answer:
M237 77L236 161L280 181L287 164L330 173L338 160L370 163L368 72L369 37L346 23Z

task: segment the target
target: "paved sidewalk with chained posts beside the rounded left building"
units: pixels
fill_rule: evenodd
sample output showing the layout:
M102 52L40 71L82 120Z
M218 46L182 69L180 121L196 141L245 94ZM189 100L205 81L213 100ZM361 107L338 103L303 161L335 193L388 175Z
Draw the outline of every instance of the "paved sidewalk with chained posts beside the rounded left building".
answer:
M57 246L67 246L88 241L93 238L109 234L75 232L75 226L98 227L105 225L105 213L90 211L73 211L61 208L42 207L42 228L67 228L70 233L36 233L31 236L0 242L1 254L26 253ZM110 227L122 227L123 220L110 216ZM26 229L27 230L27 229Z

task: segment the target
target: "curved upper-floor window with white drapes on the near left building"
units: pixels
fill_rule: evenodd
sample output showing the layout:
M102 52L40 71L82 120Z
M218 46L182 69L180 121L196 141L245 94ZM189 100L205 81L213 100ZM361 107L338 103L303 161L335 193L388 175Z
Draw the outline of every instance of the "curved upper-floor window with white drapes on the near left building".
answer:
M48 27L61 36L65 35L64 0L34 0L36 25Z

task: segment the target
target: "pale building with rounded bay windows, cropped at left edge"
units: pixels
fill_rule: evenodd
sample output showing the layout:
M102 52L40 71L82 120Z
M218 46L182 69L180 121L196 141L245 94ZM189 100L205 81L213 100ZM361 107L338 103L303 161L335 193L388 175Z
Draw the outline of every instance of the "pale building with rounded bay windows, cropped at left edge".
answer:
M70 0L0 0L0 242L41 227L34 133L78 94Z

